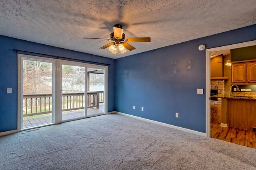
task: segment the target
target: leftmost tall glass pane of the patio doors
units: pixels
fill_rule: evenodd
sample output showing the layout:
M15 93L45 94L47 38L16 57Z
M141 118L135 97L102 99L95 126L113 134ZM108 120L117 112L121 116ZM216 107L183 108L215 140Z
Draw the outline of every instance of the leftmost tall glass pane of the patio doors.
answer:
M52 61L22 59L22 129L53 123Z

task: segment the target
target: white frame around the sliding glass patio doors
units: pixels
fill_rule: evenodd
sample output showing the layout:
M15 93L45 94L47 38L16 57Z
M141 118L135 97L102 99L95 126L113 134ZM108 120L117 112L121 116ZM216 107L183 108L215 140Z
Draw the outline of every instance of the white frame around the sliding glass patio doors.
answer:
M28 130L31 128L35 128L35 127L31 127L31 128L23 128L22 127L22 117L21 117L21 111L22 111L22 106L23 106L23 81L22 81L22 72L23 72L23 63L22 63L22 59L36 59L36 60L41 60L41 61L46 61L46 62L52 62L53 67L54 67L54 71L53 71L53 98L52 100L54 101L55 105L54 108L52 108L52 119L53 119L53 123L51 124L47 124L47 125L41 125L38 127L44 127L44 126L48 126L48 125L52 125L52 124L59 124L62 122L66 122L66 121L62 121L62 104L61 104L61 92L60 92L60 88L61 88L61 83L62 83L62 68L61 65L65 64L65 65L78 65L78 66L82 66L86 68L87 71L87 67L93 67L93 68L97 68L97 69L103 69L104 70L104 114L108 113L108 66L104 66L104 65L96 65L96 64L90 64L90 63L82 63L82 62L76 62L76 61L67 61L67 60L61 60L61 59L52 59L52 58L48 58L48 57L38 57L38 56L34 56L34 55L26 55L26 54L19 54L17 55L18 57L18 77L17 77L17 85L18 85L18 99L17 99L17 130L18 132L21 130ZM85 74L85 81L87 81L87 74ZM86 89L86 94L87 94L87 82L85 83L85 89ZM87 111L87 105L85 105L85 109ZM78 119L84 119L85 117L81 117ZM70 119L68 121L74 121L77 119Z

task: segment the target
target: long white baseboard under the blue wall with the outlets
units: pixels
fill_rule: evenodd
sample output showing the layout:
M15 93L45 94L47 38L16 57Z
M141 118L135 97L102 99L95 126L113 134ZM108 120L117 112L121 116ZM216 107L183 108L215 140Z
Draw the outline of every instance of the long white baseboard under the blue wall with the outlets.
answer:
M177 126L174 126L174 125L169 125L167 123L162 123L162 122L158 122L158 121L152 121L150 119L145 119L145 118L142 118L142 117L137 117L137 116L133 116L133 115L128 115L126 113L121 113L121 112L115 112L119 115L124 115L124 116L128 116L128 117L133 117L133 118L136 118L136 119L140 119L142 121L147 121L147 122L150 122L150 123L156 123L158 125L162 125L162 126L165 126L165 127L170 127L170 128L174 128L174 129L177 129L177 130L182 130L184 132L189 132L189 133L193 133L193 134L198 134L200 136L206 136L206 133L203 133L203 132L198 132L196 130L191 130L191 129L188 129L188 128L182 128L182 127L177 127Z

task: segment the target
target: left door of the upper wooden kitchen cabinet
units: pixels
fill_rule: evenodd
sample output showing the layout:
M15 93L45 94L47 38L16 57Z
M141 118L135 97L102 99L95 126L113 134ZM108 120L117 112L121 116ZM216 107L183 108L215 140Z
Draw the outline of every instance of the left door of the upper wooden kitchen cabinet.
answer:
M247 83L246 63L232 64L232 83Z

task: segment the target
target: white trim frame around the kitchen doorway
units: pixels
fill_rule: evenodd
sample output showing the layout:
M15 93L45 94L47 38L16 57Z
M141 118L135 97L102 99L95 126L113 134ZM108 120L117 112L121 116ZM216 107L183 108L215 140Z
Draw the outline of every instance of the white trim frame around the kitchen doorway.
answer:
M226 45L222 47L215 47L206 49L206 136L210 137L211 133L211 103L210 103L210 85L211 85L211 77L210 77L210 53L214 51L221 51L226 49L235 49L256 45L256 40L250 42L237 43L232 45Z

